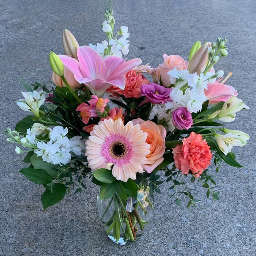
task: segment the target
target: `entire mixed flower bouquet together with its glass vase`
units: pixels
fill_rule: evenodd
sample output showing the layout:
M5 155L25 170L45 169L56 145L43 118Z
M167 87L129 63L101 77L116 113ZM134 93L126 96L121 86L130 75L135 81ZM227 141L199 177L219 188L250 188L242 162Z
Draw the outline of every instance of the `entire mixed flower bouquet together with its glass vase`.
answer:
M236 112L249 109L214 64L227 56L227 40L218 38L192 46L188 61L164 54L156 68L127 60L129 33L114 33L113 11L104 14L107 40L79 46L65 29L65 55L49 54L53 86L35 83L16 104L29 115L7 128L8 141L20 144L29 164L20 170L44 186L44 210L65 194L81 193L90 180L100 186L98 208L108 236L119 244L135 241L145 230L153 210L153 192L164 181L170 197L180 205L181 195L195 199L185 180L219 199L211 162L222 160L242 167L232 153L249 136L223 128ZM152 79L149 79L149 77ZM161 175L161 173L163 175Z

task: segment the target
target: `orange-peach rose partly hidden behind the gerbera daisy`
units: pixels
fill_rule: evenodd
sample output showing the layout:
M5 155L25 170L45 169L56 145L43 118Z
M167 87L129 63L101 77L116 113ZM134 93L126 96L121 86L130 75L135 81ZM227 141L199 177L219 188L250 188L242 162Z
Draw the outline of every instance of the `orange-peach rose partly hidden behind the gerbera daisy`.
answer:
M144 121L140 118L132 120L133 125L140 124L140 129L148 133L146 143L150 145L150 153L146 156L147 161L142 165L147 173L151 173L158 165L164 161L163 154L165 152L165 128L160 124L148 120Z

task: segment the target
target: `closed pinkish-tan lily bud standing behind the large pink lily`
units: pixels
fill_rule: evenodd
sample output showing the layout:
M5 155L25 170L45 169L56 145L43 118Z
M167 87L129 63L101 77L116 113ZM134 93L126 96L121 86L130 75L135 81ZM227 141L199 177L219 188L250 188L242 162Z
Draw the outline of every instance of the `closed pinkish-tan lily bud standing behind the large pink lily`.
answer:
M73 34L67 29L63 30L62 44L65 54L77 59L77 48L79 45Z

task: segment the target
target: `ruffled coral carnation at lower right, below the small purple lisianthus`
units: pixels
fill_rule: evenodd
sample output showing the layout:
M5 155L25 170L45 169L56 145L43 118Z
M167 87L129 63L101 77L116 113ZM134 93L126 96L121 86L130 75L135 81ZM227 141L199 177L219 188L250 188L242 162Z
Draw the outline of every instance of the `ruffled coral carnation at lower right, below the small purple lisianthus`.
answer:
M175 166L182 174L188 174L191 170L198 178L211 163L212 153L202 135L191 132L189 137L183 138L182 145L177 145L173 149L173 157Z

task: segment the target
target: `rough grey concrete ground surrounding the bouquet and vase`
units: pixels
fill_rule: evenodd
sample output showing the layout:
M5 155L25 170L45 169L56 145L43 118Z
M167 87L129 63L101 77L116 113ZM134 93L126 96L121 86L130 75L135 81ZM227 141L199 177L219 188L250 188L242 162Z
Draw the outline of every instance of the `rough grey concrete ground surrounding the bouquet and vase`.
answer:
M255 1L0 1L0 130L14 128L26 113L13 100L23 90L19 76L29 83L50 84L49 51L63 53L62 29L69 29L80 45L101 42L106 7L114 9L116 25L131 33L128 58L139 57L153 67L162 54L187 58L196 40L228 38L228 57L218 63L229 84L251 108L240 111L231 129L251 136L248 145L235 148L244 166L223 164L215 181L220 201L206 199L198 184L194 194L203 199L186 209L169 199L169 184L156 195L154 216L143 238L121 247L112 243L96 208L98 187L87 182L82 194L66 196L43 211L43 188L18 173L25 165L15 146L1 136L0 255L226 255L256 254L255 170ZM212 168L211 173L214 174Z

